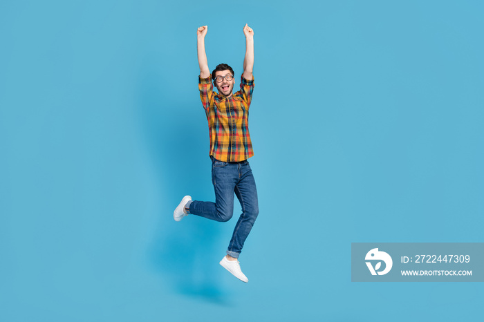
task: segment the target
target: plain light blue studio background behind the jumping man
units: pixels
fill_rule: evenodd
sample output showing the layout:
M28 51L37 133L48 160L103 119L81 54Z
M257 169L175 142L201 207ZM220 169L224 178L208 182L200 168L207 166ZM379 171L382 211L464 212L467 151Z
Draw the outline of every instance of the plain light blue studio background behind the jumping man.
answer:
M351 283L352 242L483 242L482 1L1 1L1 321L476 321L480 283ZM259 218L218 265L196 28L242 72ZM239 77L239 76L237 76ZM236 211L239 211L236 204Z

